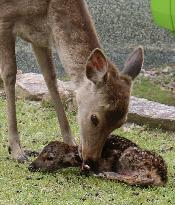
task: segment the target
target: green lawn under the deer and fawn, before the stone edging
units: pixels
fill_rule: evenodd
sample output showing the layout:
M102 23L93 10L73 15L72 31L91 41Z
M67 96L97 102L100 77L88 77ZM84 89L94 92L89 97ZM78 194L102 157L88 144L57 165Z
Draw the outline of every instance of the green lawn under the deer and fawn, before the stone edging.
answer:
M53 140L61 139L54 110L39 103L17 102L18 125L24 146L40 150ZM69 114L71 128L79 137L75 115ZM175 133L134 127L119 129L141 147L160 153L168 164L169 181L165 187L140 188L116 181L80 176L78 168L64 169L55 174L30 173L28 163L17 164L7 152L7 122L5 100L0 98L0 204L87 204L87 205L168 205L175 204ZM173 146L161 153L162 147ZM30 159L32 160L32 159Z

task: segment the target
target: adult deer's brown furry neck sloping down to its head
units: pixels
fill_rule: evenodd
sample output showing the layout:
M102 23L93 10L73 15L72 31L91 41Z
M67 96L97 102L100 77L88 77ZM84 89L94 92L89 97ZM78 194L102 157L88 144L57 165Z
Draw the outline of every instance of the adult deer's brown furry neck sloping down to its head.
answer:
M50 6L53 38L64 69L75 85L85 79L88 56L100 43L84 0L57 0Z

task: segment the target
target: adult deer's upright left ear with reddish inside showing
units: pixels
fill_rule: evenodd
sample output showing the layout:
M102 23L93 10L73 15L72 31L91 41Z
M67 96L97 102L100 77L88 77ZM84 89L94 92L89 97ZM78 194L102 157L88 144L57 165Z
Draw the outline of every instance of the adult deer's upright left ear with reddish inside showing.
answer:
M105 55L99 48L90 54L86 64L86 76L95 84L105 80L107 75L108 62Z

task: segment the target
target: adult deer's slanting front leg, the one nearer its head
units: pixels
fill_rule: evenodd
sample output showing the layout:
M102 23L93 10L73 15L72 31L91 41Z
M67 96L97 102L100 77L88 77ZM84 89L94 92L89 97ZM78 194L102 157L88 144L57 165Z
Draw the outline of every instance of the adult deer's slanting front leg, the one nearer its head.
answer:
M56 109L63 141L68 145L75 145L75 141L72 137L71 129L57 89L57 79L55 67L52 62L51 50L49 48L41 48L35 45L32 45L32 47Z

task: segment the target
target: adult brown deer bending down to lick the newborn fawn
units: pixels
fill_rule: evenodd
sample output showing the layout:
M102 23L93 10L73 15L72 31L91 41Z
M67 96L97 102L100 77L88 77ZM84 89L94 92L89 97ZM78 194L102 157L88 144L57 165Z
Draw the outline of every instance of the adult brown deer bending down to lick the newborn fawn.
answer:
M81 133L80 153L84 161L97 160L105 138L125 121L131 81L143 64L143 50L137 48L122 73L101 50L84 0L0 0L0 69L7 97L9 148L19 162L26 159L16 122L15 38L32 44L53 99L64 142L74 139L57 90L51 47L77 87Z

